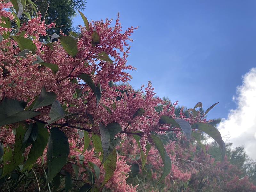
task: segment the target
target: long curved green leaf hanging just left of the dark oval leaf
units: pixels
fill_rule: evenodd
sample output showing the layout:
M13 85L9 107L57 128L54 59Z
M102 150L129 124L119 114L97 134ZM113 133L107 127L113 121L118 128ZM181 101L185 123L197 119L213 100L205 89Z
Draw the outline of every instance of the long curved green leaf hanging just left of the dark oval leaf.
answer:
M48 143L49 133L46 128L44 128L44 124L36 123L38 126L38 135L33 143L29 154L28 159L23 167L23 170L28 169L28 167L36 162L36 160L43 154L44 149Z

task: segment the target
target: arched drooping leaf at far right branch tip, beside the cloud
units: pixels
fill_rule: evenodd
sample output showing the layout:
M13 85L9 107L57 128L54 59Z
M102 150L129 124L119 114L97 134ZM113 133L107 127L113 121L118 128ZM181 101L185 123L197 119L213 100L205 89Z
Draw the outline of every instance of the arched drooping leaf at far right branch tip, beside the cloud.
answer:
M221 134L217 128L208 123L195 123L192 125L192 129L199 129L212 137L220 145L222 157L224 159L226 153L226 145L222 140Z

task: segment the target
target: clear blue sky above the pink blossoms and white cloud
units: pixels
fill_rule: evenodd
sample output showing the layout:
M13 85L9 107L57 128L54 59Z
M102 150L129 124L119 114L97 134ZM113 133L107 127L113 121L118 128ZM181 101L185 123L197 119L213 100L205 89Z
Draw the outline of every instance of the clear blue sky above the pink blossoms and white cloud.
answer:
M256 1L88 0L88 20L120 21L132 35L128 64L137 68L130 82L152 81L157 96L206 110L209 118L227 118L241 76L256 63ZM80 15L74 25L83 24Z

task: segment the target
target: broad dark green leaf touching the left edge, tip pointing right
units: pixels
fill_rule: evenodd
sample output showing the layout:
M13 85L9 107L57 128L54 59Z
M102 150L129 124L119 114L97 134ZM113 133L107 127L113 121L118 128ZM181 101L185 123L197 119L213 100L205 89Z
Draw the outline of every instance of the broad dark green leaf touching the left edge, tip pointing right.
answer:
M23 103L4 98L0 103L0 126L17 123L40 114L38 111L24 111Z

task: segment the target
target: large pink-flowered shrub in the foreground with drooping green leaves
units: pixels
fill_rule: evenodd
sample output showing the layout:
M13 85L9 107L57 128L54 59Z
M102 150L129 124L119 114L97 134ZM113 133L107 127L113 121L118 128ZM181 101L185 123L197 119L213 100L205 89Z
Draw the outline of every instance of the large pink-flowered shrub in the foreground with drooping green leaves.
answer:
M46 42L40 39L54 23L45 25L39 12L20 24L26 2L12 1L16 14L8 9L10 2L0 2L0 158L8 189L136 191L126 183L132 161L124 157L134 151L140 154L140 171L147 160L156 167L154 180L163 182L174 172L186 181L191 173L172 165L172 143L164 145L158 136L167 131L178 137L183 132L188 141L192 129L201 130L219 143L224 156L220 132L204 118L216 104L201 114L198 103L188 118L183 109L176 117L177 102L156 98L150 82L145 91L113 86L132 78L126 72L135 69L127 65L128 42L137 27L122 32L119 16L111 27L112 20L88 22L80 12L85 26L79 34L53 34ZM17 34L11 20L20 27Z

